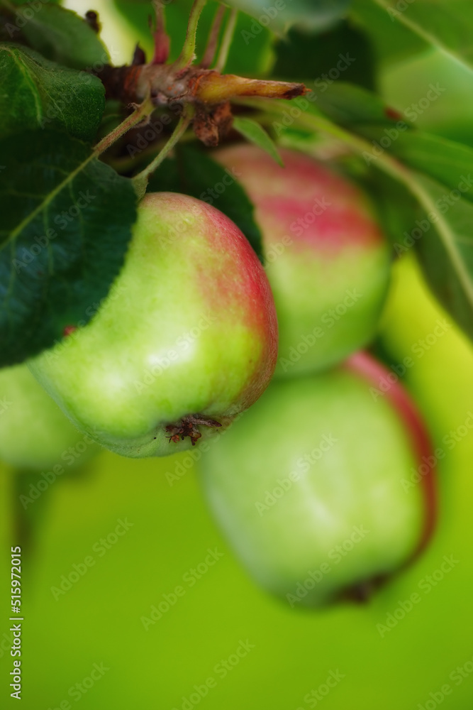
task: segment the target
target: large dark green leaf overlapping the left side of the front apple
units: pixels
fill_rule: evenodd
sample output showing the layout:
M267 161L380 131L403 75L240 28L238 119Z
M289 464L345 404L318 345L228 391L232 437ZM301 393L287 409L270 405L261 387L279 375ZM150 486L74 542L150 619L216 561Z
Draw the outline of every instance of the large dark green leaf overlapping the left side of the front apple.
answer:
M0 366L86 324L123 264L131 181L58 131L0 142Z

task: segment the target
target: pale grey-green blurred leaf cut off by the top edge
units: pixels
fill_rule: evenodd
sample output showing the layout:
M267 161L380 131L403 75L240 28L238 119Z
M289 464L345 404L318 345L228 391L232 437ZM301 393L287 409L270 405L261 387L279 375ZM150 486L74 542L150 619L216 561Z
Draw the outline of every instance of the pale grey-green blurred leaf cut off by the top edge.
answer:
M308 31L330 27L347 10L350 0L226 0L226 4L254 18L253 35L269 27L273 32L284 33L296 25Z

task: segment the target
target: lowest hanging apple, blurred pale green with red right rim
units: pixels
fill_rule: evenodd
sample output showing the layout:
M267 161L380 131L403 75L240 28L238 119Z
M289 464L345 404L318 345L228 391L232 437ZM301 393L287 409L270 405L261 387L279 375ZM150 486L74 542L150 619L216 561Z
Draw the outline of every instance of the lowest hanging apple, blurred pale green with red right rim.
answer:
M230 544L291 607L364 599L433 530L428 434L388 376L362 353L327 373L274 381L201 459Z

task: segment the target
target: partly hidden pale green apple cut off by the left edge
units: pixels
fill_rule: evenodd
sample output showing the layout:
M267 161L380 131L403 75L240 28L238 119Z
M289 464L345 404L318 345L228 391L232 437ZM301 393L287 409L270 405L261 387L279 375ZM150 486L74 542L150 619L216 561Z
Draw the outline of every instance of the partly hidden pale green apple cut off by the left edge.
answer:
M5 407L0 414L0 459L10 466L45 471L66 462L72 469L100 451L91 439L84 440L26 365L0 369L0 398Z

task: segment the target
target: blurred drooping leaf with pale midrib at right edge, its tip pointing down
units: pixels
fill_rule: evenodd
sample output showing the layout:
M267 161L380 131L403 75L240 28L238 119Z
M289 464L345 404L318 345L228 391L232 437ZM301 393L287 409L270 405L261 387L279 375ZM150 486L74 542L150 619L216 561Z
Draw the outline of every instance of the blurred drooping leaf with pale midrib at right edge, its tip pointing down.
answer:
M431 207L416 225L417 232L411 232L425 278L440 303L473 339L473 204L460 198L446 205L445 185L425 175L413 177Z

